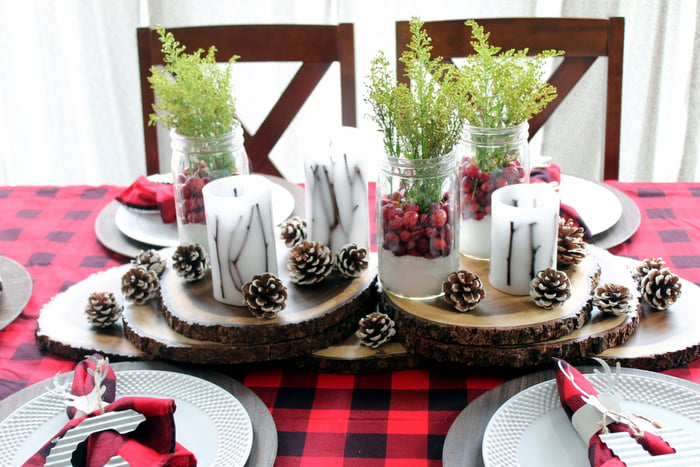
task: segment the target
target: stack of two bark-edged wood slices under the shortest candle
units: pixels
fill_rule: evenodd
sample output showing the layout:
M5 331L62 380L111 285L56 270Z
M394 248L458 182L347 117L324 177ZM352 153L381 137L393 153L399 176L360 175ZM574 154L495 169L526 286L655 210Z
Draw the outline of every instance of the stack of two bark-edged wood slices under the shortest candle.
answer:
M462 257L463 269L488 277L488 262ZM552 356L575 360L627 341L639 324L639 300L627 315L605 315L592 307L597 284L616 282L636 291L629 269L603 250L588 247L572 271L572 295L561 307L539 308L529 296L500 292L482 280L485 298L468 313L457 313L442 298L406 300L384 292L409 352L439 362L475 366L525 367Z

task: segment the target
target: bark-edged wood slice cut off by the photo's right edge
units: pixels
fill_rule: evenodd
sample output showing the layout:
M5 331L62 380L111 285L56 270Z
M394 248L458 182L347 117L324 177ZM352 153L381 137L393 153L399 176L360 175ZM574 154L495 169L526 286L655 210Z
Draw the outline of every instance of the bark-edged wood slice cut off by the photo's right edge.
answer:
M621 258L630 269L637 261ZM642 301L639 329L625 345L597 356L643 370L675 368L700 358L700 288L681 279L681 296L668 310L654 311Z

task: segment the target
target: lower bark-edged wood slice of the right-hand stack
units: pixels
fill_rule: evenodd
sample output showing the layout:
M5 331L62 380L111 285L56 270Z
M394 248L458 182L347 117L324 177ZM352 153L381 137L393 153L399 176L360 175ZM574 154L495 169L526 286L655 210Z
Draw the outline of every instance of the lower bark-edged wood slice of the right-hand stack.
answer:
M595 251L601 265L600 284L612 282L627 286L634 296L634 306L625 316L604 315L593 309L591 320L567 335L542 342L513 345L462 345L432 339L419 334L403 334L409 352L439 362L473 366L531 367L548 365L551 357L576 361L621 345L639 326L638 292L629 269L618 258L603 250ZM488 298L487 298L488 299Z

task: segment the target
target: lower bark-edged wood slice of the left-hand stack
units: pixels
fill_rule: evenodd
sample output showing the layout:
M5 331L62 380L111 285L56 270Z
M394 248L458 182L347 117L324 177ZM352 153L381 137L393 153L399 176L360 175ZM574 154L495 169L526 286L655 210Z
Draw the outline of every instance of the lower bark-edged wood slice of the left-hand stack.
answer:
M342 341L354 331L346 320L319 334L260 344L223 344L192 339L174 331L156 302L124 309L126 337L152 357L182 363L242 364L287 360Z

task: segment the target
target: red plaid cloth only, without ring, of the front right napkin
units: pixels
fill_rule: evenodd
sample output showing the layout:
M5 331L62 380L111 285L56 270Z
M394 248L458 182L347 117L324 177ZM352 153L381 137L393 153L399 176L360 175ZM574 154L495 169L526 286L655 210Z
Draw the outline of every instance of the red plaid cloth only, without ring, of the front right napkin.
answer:
M598 391L593 385L583 376L576 368L569 365L566 361L559 358L553 358L554 373L559 390L559 398L561 405L569 419L574 417L574 414L587 405L595 404L598 397ZM590 396L593 396L591 398ZM600 421L603 421L603 415L600 416ZM637 442L650 454L658 456L661 454L671 454L676 452L668 445L661 437L648 431L639 431L631 427L627 423L611 422L605 428L608 432L617 433L626 431L637 439ZM592 467L624 467L622 462L615 454L601 441L600 435L603 433L603 428L594 432L588 442L588 460Z

